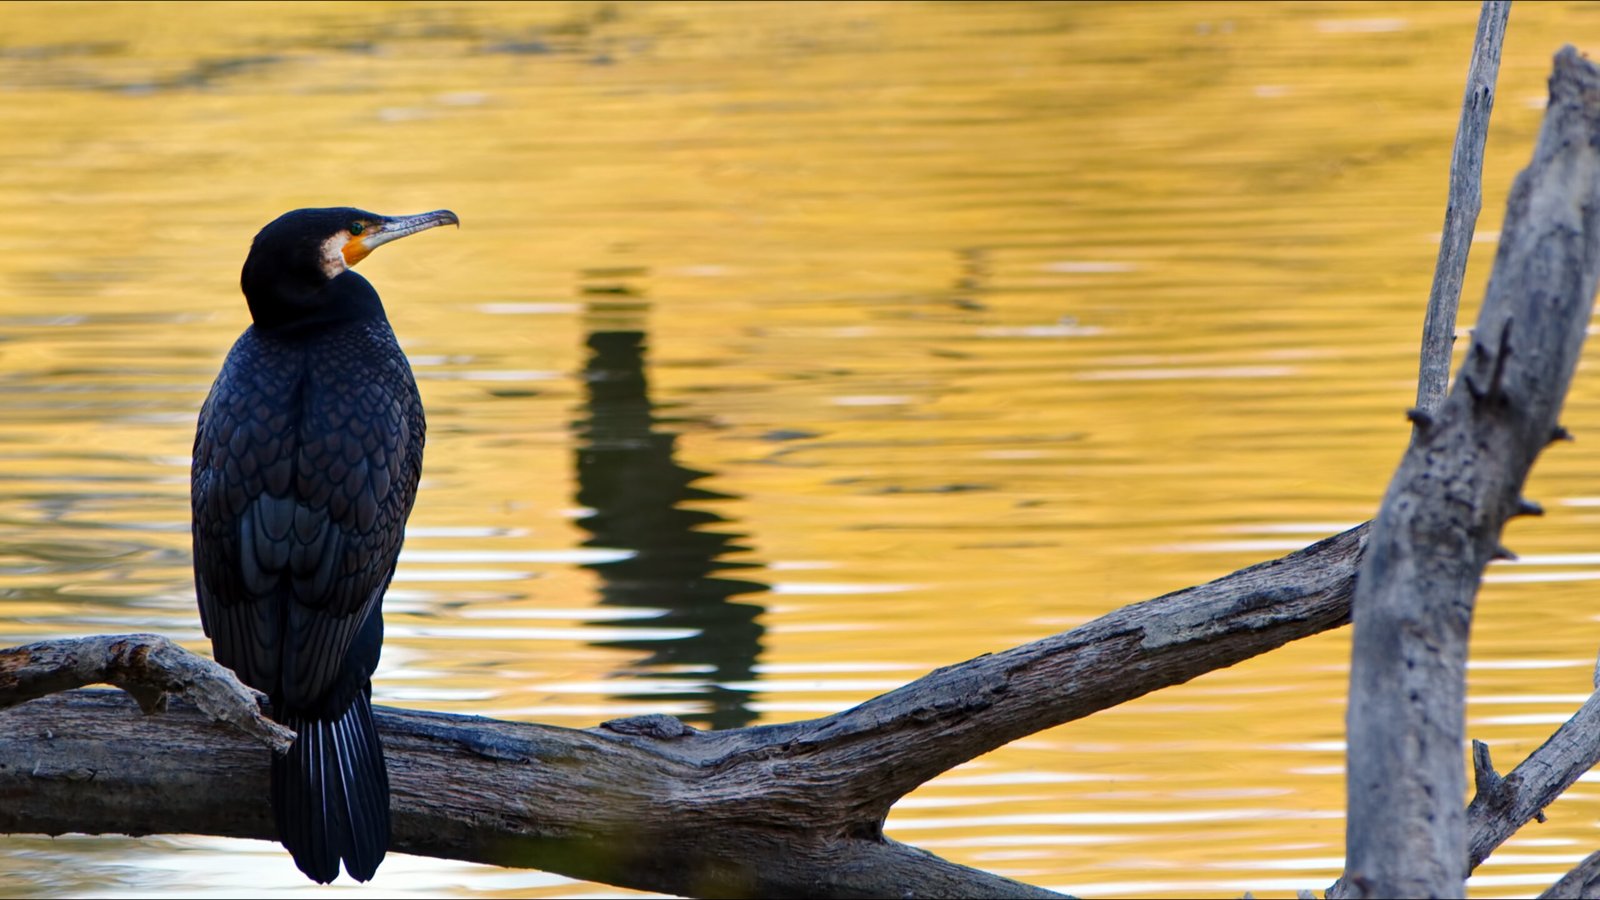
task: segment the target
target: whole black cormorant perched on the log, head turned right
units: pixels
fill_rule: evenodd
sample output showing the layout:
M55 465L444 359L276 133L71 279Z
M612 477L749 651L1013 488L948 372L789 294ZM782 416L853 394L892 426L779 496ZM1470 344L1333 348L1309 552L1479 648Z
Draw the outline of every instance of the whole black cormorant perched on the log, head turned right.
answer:
M195 431L200 621L216 660L298 735L272 757L272 818L323 884L339 860L368 881L389 849L371 674L426 434L382 301L350 266L440 224L461 223L328 208L261 229L240 277L254 323Z

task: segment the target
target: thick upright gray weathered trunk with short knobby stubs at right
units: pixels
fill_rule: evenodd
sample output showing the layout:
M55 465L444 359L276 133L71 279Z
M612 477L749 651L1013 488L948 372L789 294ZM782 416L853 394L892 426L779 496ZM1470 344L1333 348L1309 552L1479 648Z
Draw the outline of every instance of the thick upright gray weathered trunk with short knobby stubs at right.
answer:
M1355 897L1459 897L1467 634L1483 567L1506 556L1534 458L1563 434L1600 280L1600 72L1555 58L1533 163L1518 175L1472 349L1418 418L1373 524L1354 605L1346 884Z

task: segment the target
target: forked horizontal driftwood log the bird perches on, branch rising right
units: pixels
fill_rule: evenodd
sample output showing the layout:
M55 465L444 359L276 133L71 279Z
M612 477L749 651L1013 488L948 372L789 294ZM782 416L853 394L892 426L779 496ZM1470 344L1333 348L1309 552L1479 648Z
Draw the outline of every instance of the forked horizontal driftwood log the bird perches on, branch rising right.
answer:
M1019 737L1346 623L1365 533L806 722L570 730L381 709L394 849L702 897L1046 897L886 839L890 806ZM0 711L0 833L270 839L264 754L187 706L141 717L106 692L22 703Z

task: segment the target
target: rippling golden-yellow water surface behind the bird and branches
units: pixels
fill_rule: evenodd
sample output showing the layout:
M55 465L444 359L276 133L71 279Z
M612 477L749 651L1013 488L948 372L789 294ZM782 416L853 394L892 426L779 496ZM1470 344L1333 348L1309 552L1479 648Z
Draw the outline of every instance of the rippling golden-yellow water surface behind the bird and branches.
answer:
M386 703L778 722L1366 519L1406 436L1474 3L0 6L0 644L203 647L195 410L277 213L376 255L430 418ZM1584 5L1518 5L1485 219ZM408 242L410 243L410 242ZM1469 274L1470 322L1486 250ZM1584 367L1496 565L1474 737L1589 689ZM1347 637L1018 741L888 831L1101 895L1342 857ZM1592 778L1491 858L1594 849ZM0 839L14 895L309 892L264 842ZM392 857L374 895L611 892Z

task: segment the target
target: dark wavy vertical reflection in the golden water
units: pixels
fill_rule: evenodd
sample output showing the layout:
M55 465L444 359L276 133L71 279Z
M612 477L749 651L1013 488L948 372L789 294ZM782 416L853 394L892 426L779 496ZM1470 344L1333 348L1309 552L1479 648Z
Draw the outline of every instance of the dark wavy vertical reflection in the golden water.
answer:
M666 610L650 618L605 621L608 628L672 628L675 639L595 642L642 653L630 677L683 681L682 690L619 693L624 700L678 700L699 711L682 719L734 729L757 719L750 692L728 687L755 677L763 609L734 597L766 591L760 581L723 572L754 569L723 559L749 548L744 535L720 530L726 519L706 508L734 500L694 487L710 472L677 463L678 434L656 416L645 375L645 309L637 303L594 301L587 307L589 357L584 365L578 434L578 520L594 536L584 546L630 551L619 560L589 564L600 575L600 602Z

